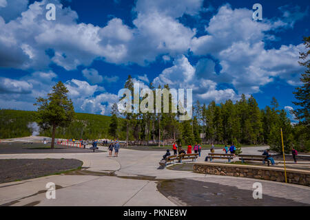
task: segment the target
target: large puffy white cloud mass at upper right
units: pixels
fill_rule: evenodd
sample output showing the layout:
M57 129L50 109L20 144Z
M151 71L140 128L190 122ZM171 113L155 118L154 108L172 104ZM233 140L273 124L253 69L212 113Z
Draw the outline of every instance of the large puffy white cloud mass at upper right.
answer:
M282 45L266 50L264 43L266 37L274 39L268 31L290 24L279 19L256 22L251 14L246 8L233 10L223 5L209 21L207 34L192 39L194 55L212 56L221 67L215 73L213 61L201 58L196 67L198 77L231 84L239 94L255 94L275 78L299 85L303 67L298 64L298 54L304 46Z

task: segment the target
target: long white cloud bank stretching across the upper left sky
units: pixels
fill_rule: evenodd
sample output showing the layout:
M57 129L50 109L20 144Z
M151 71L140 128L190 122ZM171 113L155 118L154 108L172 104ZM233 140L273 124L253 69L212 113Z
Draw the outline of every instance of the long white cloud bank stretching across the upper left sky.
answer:
M176 56L188 50L195 34L195 30L185 27L176 17L197 14L202 4L201 0L184 1L176 7L170 1L141 0L136 3L134 28L118 18L101 28L78 23L75 11L63 8L59 0L53 2L56 21L45 19L45 5L50 3L47 0L35 1L19 10L14 19L0 18L1 67L46 70L52 62L72 70L79 65L89 66L96 58L116 64L147 65L161 54ZM11 14L9 5L0 10ZM47 54L47 50L53 50L53 54Z

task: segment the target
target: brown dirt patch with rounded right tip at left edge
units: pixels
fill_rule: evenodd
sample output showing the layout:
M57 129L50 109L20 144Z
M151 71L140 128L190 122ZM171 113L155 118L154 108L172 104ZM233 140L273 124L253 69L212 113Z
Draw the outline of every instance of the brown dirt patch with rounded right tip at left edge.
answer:
M82 164L78 159L0 159L0 183L61 173Z

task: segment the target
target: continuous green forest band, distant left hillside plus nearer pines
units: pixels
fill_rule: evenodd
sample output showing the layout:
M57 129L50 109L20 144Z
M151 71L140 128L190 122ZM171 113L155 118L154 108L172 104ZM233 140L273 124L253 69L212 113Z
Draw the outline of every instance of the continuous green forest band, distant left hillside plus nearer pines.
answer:
M296 146L299 151L310 151L309 140L300 136L300 126L293 126L284 109L278 108L276 98L270 106L259 109L253 96L242 95L235 103L227 100L216 104L193 106L192 120L179 121L177 113L131 113L130 117L119 115L115 109L112 117L88 113L75 113L68 127L56 129L57 138L93 140L117 138L132 144L168 144L176 140L179 144L269 144L280 151L282 128L287 151ZM28 126L36 121L36 111L0 110L0 138L24 137L32 134ZM115 117L115 115L117 115ZM116 122L114 121L116 120ZM115 129L111 129L115 128ZM51 129L41 130L40 135L51 136ZM201 138L200 137L201 135Z

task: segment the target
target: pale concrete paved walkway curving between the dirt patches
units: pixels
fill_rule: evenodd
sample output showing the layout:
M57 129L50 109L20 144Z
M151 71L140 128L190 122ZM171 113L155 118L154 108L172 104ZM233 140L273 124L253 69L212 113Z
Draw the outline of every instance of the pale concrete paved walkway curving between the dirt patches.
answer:
M100 146L103 150L107 148ZM244 153L257 153L266 147L243 148ZM221 150L218 150L220 152ZM203 151L203 161L209 151ZM187 171L158 168L162 151L134 151L121 148L119 157L105 153L16 154L0 155L0 159L74 158L83 161L90 175L52 175L25 181L0 184L0 204L10 206L176 206L180 203L158 192L158 179L187 178L216 182L253 190L256 179L203 175ZM96 175L114 173L115 176ZM155 179L156 178L156 179ZM45 198L45 184L56 184L56 199ZM310 204L310 188L273 181L260 181L263 193ZM225 201L223 201L225 206Z

